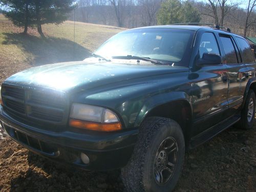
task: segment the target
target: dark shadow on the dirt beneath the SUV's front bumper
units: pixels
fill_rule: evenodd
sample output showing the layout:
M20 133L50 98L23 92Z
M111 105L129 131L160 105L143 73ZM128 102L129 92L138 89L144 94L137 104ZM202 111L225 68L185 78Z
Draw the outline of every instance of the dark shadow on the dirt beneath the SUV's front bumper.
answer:
M11 180L10 191L123 191L120 171L93 172L28 152L29 168Z

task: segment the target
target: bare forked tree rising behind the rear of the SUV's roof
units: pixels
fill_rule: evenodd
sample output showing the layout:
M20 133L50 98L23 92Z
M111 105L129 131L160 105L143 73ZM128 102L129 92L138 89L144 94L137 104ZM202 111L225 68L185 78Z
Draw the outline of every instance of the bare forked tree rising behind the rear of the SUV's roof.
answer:
M223 26L225 16L230 14L232 10L235 10L241 4L228 4L228 0L207 0L207 2L203 14L214 18L215 24L219 26Z

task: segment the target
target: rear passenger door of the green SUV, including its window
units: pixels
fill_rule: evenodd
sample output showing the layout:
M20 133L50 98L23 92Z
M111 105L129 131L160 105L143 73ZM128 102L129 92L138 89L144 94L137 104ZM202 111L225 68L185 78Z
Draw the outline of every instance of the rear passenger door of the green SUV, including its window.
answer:
M225 54L228 73L228 93L227 100L229 110L227 116L232 116L238 112L243 102L244 91L248 78L248 70L242 63L236 42L231 35L219 34L222 44L222 51Z

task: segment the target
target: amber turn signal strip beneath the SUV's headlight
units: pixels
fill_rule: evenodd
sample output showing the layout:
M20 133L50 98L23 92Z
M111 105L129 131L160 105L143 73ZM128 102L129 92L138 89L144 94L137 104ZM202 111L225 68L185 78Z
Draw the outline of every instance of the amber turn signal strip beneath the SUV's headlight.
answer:
M120 122L115 123L95 123L89 121L81 121L77 119L70 119L69 125L79 129L86 129L92 131L101 131L101 132L113 132L119 131L122 129Z

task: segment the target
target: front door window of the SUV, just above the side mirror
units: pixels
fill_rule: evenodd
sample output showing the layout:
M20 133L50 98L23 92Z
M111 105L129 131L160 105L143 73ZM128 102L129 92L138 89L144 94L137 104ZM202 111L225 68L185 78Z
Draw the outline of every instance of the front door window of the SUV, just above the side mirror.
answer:
M204 33L201 37L199 54L200 58L204 53L216 53L220 55L219 47L213 33Z

